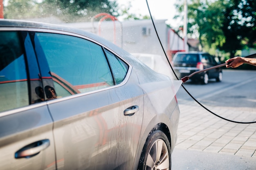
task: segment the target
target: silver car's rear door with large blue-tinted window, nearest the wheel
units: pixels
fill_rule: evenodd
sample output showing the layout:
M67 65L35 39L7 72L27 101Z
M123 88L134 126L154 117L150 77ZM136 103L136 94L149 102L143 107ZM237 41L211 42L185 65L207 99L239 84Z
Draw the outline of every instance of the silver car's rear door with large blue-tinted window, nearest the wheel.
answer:
M132 169L144 110L137 76L111 51L76 36L37 32L34 38L37 55L49 64L44 86L55 93L47 103L57 168Z

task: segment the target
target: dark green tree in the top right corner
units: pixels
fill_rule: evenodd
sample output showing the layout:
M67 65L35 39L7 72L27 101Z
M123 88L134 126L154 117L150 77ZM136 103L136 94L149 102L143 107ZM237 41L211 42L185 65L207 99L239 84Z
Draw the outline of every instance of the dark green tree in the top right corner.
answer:
M255 0L233 0L223 10L222 31L225 43L221 50L234 57L237 50L256 46L256 2Z

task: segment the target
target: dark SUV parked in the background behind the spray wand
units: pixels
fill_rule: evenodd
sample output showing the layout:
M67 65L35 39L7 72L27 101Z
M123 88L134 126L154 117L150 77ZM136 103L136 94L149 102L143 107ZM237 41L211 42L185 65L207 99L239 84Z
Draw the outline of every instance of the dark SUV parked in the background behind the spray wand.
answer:
M177 52L172 61L173 69L179 78L218 64L220 64L218 58L204 52ZM197 73L189 79L199 81L202 84L207 84L209 79L216 79L217 82L221 82L222 69L210 69Z

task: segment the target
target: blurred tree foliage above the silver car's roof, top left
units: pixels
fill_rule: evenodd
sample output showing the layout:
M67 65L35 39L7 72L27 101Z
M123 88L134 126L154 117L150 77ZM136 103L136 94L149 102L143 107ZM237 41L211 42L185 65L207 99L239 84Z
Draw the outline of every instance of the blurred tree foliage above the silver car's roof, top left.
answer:
M4 18L25 19L56 16L67 22L87 21L98 13L117 16L117 2L110 0L9 0Z

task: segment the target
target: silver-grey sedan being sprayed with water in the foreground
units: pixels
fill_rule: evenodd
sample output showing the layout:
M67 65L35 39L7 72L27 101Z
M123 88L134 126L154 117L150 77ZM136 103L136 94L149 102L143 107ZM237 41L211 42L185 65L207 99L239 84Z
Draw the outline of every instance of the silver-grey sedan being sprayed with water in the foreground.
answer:
M80 29L1 19L0 37L1 170L171 169L175 81Z

